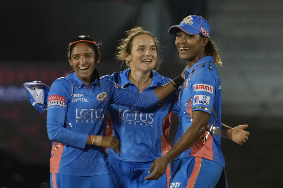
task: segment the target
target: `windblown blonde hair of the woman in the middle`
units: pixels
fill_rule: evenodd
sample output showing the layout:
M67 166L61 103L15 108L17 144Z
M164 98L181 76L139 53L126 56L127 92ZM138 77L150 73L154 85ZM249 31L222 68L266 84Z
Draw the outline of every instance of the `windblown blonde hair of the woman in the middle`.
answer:
M159 42L157 41L156 38L154 38L152 33L150 33L147 30L144 30L144 28L142 28L142 27L132 28L128 31L125 31L125 33L126 33L126 38L122 39L120 45L116 48L118 50L118 52L116 53L116 59L121 61L122 65L125 62L126 65L128 67L130 67L129 61L127 61L126 58L125 58L125 54L126 53L129 54L129 55L131 54L131 49L133 47L132 42L133 42L133 40L136 36L139 36L139 35L142 35L142 34L147 34L149 36L152 36L152 38L155 41L156 51L157 51L157 61L156 61L156 64L154 66L154 70L158 70L163 58L162 58L162 55L161 55Z

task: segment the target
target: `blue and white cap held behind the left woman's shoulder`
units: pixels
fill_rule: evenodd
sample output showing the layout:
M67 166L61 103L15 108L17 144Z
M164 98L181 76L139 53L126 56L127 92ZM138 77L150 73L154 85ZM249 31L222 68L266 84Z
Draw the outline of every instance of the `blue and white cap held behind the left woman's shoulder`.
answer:
M40 113L47 110L47 101L50 87L41 81L33 81L24 83L24 88L27 90L30 103Z

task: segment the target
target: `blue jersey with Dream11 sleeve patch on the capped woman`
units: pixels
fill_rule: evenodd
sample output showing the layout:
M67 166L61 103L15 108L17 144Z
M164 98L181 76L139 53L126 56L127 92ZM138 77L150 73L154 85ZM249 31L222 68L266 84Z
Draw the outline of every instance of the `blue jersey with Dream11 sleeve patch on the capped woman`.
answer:
M179 100L174 106L179 110L175 144L192 125L192 111L204 111L210 114L210 118L203 135L175 160L204 157L224 167L225 160L221 150L221 82L213 62L213 57L206 56L185 70Z

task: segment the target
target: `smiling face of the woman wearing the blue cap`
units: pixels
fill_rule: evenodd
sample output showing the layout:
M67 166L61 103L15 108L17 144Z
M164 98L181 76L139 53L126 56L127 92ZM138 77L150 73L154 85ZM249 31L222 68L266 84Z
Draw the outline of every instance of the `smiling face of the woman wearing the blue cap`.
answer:
M207 42L207 37L201 37L199 34L189 35L179 31L177 32L175 45L181 59L196 63L206 56L205 45Z

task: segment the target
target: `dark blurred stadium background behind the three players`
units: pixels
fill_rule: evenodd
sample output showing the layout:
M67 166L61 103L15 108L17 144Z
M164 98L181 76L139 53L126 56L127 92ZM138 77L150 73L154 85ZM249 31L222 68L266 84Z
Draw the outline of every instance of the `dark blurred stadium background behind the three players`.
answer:
M125 69L115 60L124 31L142 26L159 39L158 71L174 78L185 66L168 28L188 15L210 24L223 66L222 122L248 124L249 140L222 141L229 187L283 187L283 48L280 0L0 1L0 188L49 187L51 141L46 113L29 103L22 84L51 85L71 70L68 44L79 34L100 42L100 75ZM172 118L170 143L177 130Z

